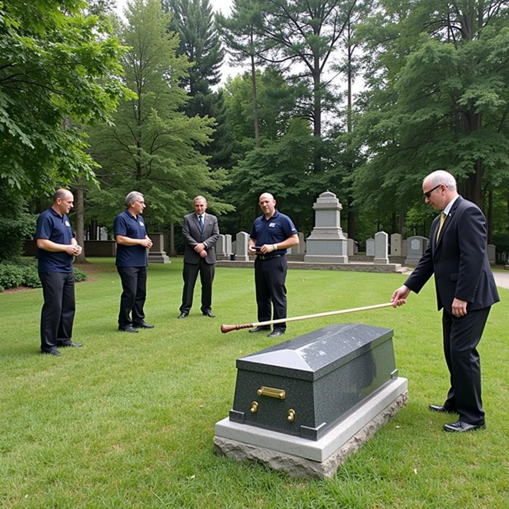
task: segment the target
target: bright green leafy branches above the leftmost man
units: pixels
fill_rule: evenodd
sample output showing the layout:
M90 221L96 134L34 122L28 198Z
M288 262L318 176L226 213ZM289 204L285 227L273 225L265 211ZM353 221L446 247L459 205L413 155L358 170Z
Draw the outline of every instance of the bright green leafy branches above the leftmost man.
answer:
M27 196L93 180L80 126L109 122L125 48L81 0L0 3L0 178Z

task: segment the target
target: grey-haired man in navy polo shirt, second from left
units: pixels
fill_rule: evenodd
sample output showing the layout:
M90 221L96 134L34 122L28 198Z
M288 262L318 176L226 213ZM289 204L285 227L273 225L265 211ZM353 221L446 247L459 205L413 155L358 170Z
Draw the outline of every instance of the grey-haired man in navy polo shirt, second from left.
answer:
M119 330L138 332L138 328L152 329L145 323L143 306L147 296L147 249L152 241L147 235L142 214L145 209L143 194L131 191L126 196L126 210L113 224L117 241L117 271L122 281ZM132 312L132 319L129 316Z

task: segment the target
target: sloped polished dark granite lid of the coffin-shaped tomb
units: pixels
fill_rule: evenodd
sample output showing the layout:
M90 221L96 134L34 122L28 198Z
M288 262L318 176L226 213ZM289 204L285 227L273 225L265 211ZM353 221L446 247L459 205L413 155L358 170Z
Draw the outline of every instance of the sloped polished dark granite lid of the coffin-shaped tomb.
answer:
M317 380L392 337L393 330L355 323L328 325L237 359L237 369Z

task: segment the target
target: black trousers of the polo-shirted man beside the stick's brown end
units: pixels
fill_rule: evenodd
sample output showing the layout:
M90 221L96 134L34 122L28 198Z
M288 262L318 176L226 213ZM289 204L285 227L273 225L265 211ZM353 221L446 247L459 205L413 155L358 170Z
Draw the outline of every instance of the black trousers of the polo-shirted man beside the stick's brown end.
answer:
M286 318L286 274L288 264L286 257L254 260L254 285L256 287L256 303L258 321ZM272 308L274 310L273 318ZM286 323L274 325L274 329L285 331Z

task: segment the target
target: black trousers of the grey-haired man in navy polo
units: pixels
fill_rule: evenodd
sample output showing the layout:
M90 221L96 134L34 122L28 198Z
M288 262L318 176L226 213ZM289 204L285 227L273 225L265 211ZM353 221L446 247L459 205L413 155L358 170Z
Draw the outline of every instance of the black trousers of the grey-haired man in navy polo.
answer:
M147 298L147 267L119 267L122 281L119 326L128 327L145 321L143 306ZM129 316L132 312L132 320Z

